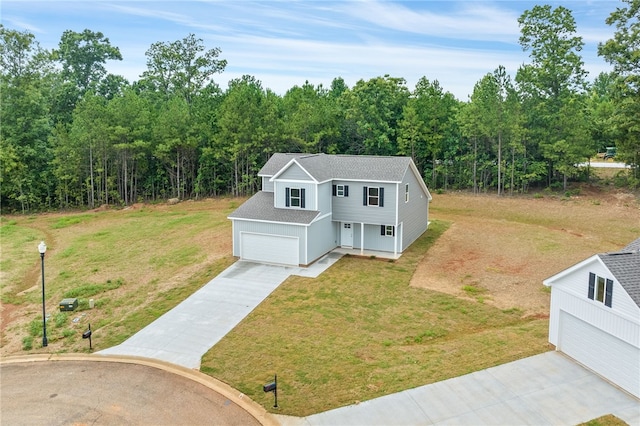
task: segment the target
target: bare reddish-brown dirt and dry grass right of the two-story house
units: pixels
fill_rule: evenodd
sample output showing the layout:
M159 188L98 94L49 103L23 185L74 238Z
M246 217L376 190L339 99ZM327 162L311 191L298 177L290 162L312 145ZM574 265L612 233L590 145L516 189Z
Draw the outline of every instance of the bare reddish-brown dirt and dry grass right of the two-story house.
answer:
M545 278L640 236L633 194L588 187L571 197L434 195L431 217L453 224L418 265L411 286L537 317L549 312Z

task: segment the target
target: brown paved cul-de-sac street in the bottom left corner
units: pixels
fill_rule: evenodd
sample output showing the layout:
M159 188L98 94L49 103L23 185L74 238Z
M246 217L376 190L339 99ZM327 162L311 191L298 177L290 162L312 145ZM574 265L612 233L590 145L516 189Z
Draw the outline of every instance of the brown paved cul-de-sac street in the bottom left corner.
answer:
M3 425L261 424L196 372L58 360L2 363L0 374Z

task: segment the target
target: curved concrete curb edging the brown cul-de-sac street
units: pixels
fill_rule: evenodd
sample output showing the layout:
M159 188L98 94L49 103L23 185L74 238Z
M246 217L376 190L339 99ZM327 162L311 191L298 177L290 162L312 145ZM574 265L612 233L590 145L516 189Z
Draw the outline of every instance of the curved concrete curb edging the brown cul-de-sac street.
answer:
M64 362L64 361L95 361L95 362L114 362L123 364L137 364L147 367L153 367L166 372L176 374L193 380L208 387L209 389L223 395L231 402L242 408L253 418L255 418L263 426L279 426L280 422L267 412L261 405L254 402L251 398L238 392L236 389L227 385L220 380L207 376L197 370L191 370L179 365L170 364L168 362L159 361L150 358L134 357L134 356L110 356L110 355L79 355L79 354L39 354L39 355L22 355L12 356L0 359L0 364L17 364L27 362Z

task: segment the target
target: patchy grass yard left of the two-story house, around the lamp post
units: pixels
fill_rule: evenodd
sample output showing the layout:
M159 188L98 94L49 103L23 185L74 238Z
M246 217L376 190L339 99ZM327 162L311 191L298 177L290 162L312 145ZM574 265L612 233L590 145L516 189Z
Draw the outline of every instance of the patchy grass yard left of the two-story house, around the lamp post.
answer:
M0 354L86 351L81 334L88 323L96 350L134 334L233 261L227 215L242 201L2 217ZM48 246L44 349L40 240ZM80 292L80 306L60 315L58 304L70 292Z

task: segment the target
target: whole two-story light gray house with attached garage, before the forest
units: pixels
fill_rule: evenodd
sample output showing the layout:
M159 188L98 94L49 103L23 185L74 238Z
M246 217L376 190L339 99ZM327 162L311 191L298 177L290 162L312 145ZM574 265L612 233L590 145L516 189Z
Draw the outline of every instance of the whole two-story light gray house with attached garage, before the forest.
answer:
M427 229L427 189L409 157L274 154L262 191L230 216L233 255L308 265L337 247L398 256Z

